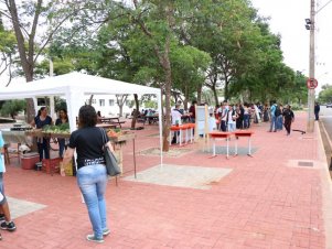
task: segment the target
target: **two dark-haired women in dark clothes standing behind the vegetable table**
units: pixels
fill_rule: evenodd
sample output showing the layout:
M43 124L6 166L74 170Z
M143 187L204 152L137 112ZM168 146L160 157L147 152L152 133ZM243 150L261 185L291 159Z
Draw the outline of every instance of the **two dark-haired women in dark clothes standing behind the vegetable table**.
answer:
M61 126L63 123L68 123L67 110L64 108L58 110L58 118L55 120L55 126ZM30 124L36 129L42 129L44 126L53 124L53 120L49 116L47 108L41 107ZM63 158L64 150L66 148L66 141L65 139L57 139L56 142L58 143L58 156ZM43 159L50 159L49 138L39 138L36 144L40 154L40 161Z

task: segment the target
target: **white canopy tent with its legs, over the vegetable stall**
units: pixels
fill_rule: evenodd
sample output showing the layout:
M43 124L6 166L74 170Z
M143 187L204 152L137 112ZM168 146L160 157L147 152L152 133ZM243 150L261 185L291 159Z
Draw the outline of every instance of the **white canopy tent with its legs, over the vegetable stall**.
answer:
M81 106L85 104L86 96L116 94L153 94L157 96L160 120L159 132L161 150L161 90L158 88L129 84L76 72L55 77L43 78L26 84L11 84L8 87L0 87L0 100L35 98L35 96L65 96L71 131L76 130L76 117L78 116Z

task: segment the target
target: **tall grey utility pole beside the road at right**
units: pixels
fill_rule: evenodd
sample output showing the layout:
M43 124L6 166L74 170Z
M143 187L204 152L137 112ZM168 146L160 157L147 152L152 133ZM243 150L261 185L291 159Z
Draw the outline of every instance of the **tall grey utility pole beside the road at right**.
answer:
M309 78L314 78L314 32L315 32L315 23L314 23L314 0L310 0L310 52L309 52ZM308 122L307 122L307 132L312 133L314 128L314 117L313 117L313 108L314 108L314 88L308 89Z

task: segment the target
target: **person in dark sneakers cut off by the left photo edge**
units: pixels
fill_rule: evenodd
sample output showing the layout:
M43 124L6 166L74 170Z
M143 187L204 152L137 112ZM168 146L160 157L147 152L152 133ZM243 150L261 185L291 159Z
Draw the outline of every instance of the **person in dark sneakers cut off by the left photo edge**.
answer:
M4 145L4 141L2 138L2 133L0 131L0 150L2 150L3 145ZM4 173L4 162L0 153L0 228L2 230L14 231L17 229L17 226L11 219L9 205L4 195L3 173ZM0 240L1 239L2 237L0 234Z

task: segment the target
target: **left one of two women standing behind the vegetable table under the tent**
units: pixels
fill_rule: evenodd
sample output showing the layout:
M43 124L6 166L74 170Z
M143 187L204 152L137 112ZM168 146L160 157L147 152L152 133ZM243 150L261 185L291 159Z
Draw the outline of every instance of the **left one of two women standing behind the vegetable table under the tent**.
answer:
M41 107L41 109L38 111L38 116L30 124L36 129L42 129L44 126L53 124L52 118L47 115L47 108ZM50 159L50 140L47 138L39 138L36 145L40 154L40 161L43 159Z

